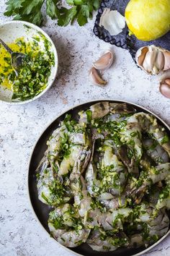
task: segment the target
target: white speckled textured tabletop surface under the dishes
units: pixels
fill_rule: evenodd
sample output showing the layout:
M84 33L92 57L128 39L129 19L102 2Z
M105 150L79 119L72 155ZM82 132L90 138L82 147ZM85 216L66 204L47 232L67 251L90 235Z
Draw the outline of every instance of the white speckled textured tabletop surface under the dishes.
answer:
M0 1L0 22L4 0ZM132 101L170 124L170 100L158 91L158 81L135 66L128 51L113 47L115 63L104 72L103 89L91 85L91 62L109 48L92 32L94 20L84 27L58 27L48 20L42 27L58 50L58 79L39 100L23 106L0 103L0 255L71 256L45 233L35 220L27 197L27 166L40 133L68 107L97 98ZM170 237L146 255L170 255Z

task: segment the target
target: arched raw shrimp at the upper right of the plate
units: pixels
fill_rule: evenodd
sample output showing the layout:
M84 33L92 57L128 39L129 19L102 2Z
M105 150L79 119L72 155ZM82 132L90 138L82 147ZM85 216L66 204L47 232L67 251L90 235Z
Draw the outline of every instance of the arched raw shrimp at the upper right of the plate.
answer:
M126 120L127 125L122 129L120 134L122 143L125 143L129 150L124 146L124 148L120 150L120 156L122 156L121 159L124 159L124 163L127 164L129 169L131 166L134 166L134 163L139 163L143 155L141 142L142 132L146 132L148 135L153 136L158 144L170 155L169 137L166 135L164 128L158 125L154 116L140 112L133 114L133 116L128 117ZM161 148L157 149L159 151L161 150ZM128 157L130 154L131 156ZM164 154L162 156L165 158L163 161L167 162L167 155ZM128 158L131 158L131 161L127 161Z

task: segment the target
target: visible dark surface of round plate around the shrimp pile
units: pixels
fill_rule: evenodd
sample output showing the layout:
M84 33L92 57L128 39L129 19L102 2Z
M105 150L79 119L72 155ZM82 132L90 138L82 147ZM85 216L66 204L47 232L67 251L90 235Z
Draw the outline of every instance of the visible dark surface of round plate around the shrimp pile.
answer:
M103 101L109 101L109 102L114 102L114 103L125 103L125 101L111 101L111 100L103 100ZM75 106L74 108L71 108L70 110L66 111L64 114L61 114L61 116L58 116L49 126L48 128L45 129L45 131L42 133L40 136L39 140L37 140L37 143L35 145L35 148L32 152L31 158L30 158L30 166L29 166L29 173L28 173L28 190L29 190L29 195L30 195L30 202L32 205L32 208L35 212L35 215L37 216L37 219L40 221L40 224L44 227L44 229L49 233L49 238L50 238L50 232L48 229L48 214L50 210L52 209L50 206L45 205L42 203L40 200L38 200L37 197L37 185L36 185L36 176L35 176L35 170L38 166L38 163L40 163L40 160L45 153L45 150L47 149L46 142L48 141L48 138L50 135L53 133L53 130L58 127L58 124L60 123L61 120L64 119L64 116L66 114L71 114L74 118L76 118L77 114L81 110L86 110L89 108L94 103L101 102L99 101L90 101L88 103L83 103L79 106ZM136 108L138 112L143 111L146 113L151 113L148 111L146 108L140 107L138 105L135 105L133 103L128 103L130 106L133 106ZM154 115L154 114L153 114ZM170 128L162 121L161 119L158 118L158 122L165 127L166 131L170 135ZM168 232L169 233L169 232ZM166 234L162 239L164 239L168 234ZM159 240L160 241L160 240ZM159 242L158 241L158 242ZM156 242L156 244L158 244ZM156 245L155 244L155 245ZM149 247L151 249L151 247ZM76 248L69 248L71 251L78 253L79 255L88 255L88 256L130 256L130 255L136 255L138 253L143 253L143 251L146 249L146 247L140 247L138 249L127 249L127 248L121 248L117 249L114 252L95 252L89 247L88 244L81 244L81 246L76 247Z

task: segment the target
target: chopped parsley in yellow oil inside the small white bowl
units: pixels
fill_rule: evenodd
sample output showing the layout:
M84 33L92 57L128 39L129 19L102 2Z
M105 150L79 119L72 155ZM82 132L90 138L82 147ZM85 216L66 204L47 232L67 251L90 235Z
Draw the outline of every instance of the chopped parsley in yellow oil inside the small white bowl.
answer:
M42 38L41 38L42 40ZM24 41L18 38L10 46L13 51L22 52L25 57L17 74L12 68L11 57L4 57L3 73L0 74L2 85L12 90L12 101L26 101L40 94L48 85L51 67L54 66L54 54L50 51L50 42L45 38L45 49L41 50L35 40Z

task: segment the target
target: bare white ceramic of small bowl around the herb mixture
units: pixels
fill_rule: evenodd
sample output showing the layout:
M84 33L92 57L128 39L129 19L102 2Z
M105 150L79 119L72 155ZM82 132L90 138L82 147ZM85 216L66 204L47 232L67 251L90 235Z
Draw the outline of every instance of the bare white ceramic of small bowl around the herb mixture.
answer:
M10 103L10 104L23 104L23 103L28 103L30 101L35 101L35 99L40 98L40 96L44 94L53 84L57 74L57 70L58 70L58 54L57 54L55 45L53 41L50 39L50 37L42 29L40 29L40 27L37 27L36 25L30 22L24 22L19 20L19 21L6 22L0 25L0 38L4 40L5 43L13 43L14 40L21 37L24 37L25 40L29 41L29 40L32 40L32 36L34 37L36 35L39 35L38 33L42 33L43 35L45 35L45 38L50 42L50 45L51 45L50 51L53 52L54 59L55 59L55 64L53 67L51 67L51 73L50 73L50 77L48 78L47 87L45 88L45 90L42 90L40 94L36 95L34 98L30 100L12 101L12 91L4 88L0 84L0 101ZM44 43L42 40L40 40L39 46L43 51Z

